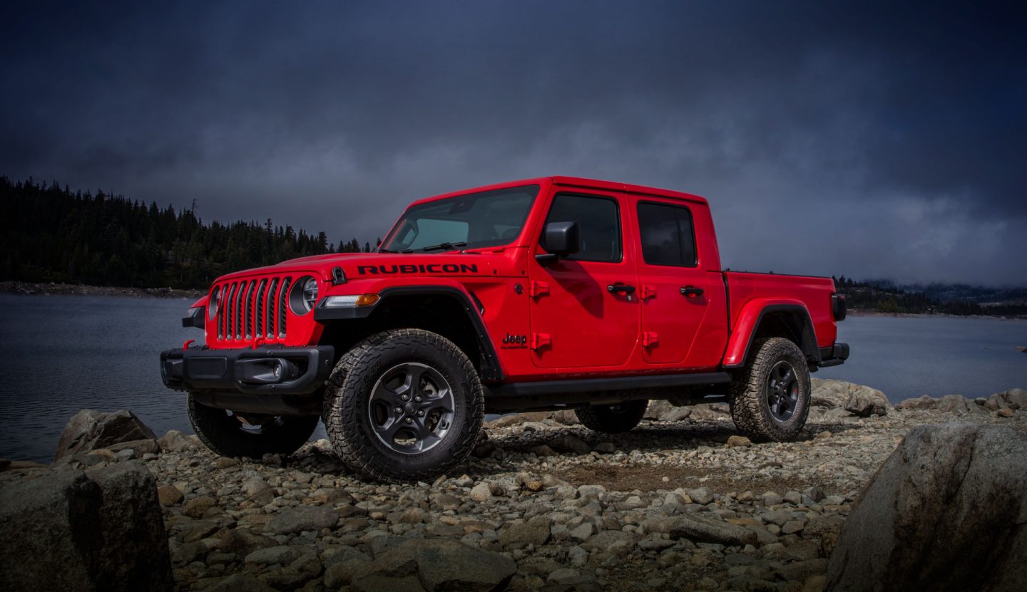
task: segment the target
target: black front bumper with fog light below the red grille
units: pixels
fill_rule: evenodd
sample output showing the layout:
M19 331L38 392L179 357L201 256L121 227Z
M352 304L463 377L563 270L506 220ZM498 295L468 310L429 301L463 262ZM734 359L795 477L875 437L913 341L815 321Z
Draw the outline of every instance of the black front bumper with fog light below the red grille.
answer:
M174 349L160 354L160 378L179 391L308 395L332 372L335 348Z

